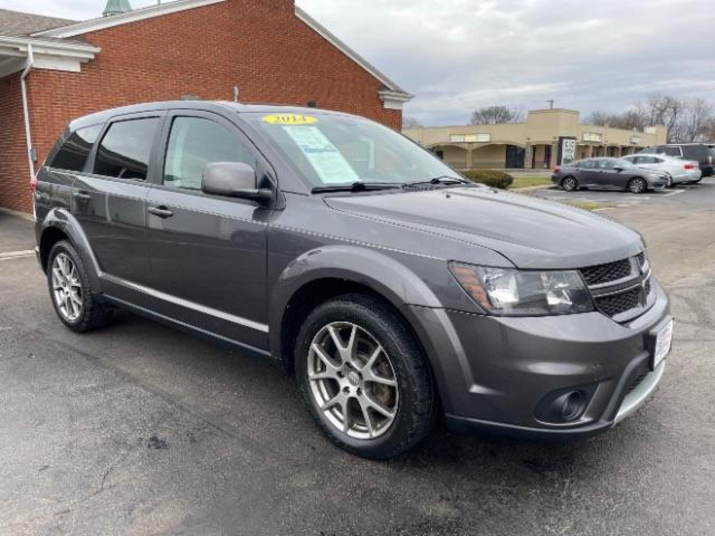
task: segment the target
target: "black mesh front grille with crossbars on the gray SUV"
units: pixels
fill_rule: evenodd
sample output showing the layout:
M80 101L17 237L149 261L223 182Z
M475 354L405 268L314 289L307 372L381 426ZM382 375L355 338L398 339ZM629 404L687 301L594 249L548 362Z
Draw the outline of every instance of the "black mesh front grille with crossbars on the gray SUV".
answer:
M645 252L636 257L580 270L596 308L623 322L642 314L651 294L651 278ZM628 314L630 313L630 314Z

